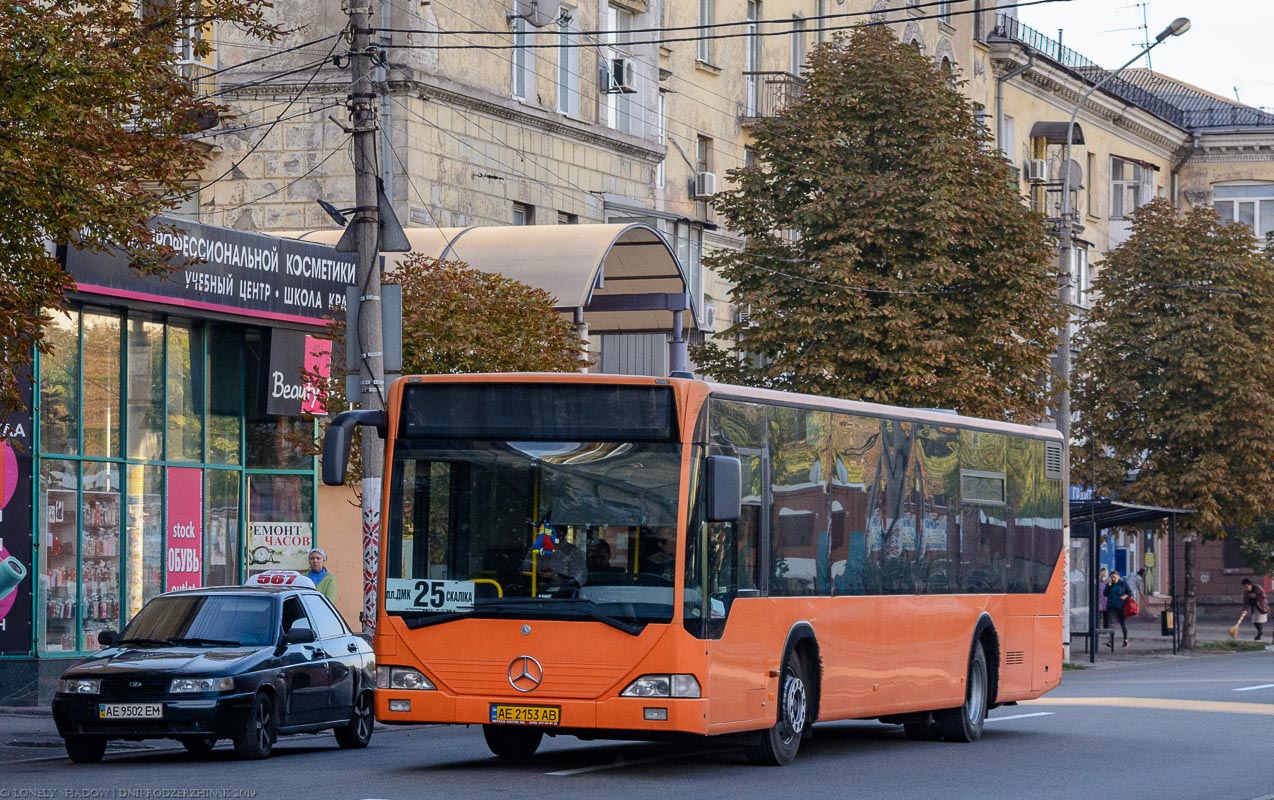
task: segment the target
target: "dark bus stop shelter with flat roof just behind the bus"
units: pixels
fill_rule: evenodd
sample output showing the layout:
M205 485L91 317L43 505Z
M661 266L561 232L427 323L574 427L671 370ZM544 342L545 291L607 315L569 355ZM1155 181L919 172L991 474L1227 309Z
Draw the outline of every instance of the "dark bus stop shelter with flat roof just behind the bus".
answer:
M1172 652L1180 650L1181 614L1177 608L1177 517L1194 513L1190 508L1170 508L1166 506L1139 506L1108 497L1094 497L1092 492L1071 488L1070 492L1070 538L1088 540L1088 660L1097 661L1097 572L1098 572L1098 532L1115 527L1135 527L1159 520L1168 520L1168 610L1172 614ZM1075 632L1071 631L1071 638Z

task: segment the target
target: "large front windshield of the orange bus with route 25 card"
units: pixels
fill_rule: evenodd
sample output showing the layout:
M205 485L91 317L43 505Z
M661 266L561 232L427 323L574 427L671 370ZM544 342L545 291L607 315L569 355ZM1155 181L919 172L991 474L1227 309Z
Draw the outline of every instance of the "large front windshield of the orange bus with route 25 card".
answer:
M413 627L670 622L680 454L652 441L399 438L386 613Z

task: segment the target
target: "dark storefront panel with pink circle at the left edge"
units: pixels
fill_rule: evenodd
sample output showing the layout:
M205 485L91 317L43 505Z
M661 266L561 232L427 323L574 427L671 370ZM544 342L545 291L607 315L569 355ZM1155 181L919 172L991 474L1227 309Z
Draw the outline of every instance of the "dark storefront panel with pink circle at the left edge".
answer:
M27 411L0 418L0 655L27 655L32 643L31 382Z

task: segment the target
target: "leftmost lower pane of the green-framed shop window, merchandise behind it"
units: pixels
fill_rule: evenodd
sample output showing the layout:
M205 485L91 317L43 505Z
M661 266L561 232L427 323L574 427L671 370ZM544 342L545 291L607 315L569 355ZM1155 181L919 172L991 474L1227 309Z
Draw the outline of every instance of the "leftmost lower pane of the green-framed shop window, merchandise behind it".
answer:
M39 648L75 651L79 618L79 464L46 459L39 466Z

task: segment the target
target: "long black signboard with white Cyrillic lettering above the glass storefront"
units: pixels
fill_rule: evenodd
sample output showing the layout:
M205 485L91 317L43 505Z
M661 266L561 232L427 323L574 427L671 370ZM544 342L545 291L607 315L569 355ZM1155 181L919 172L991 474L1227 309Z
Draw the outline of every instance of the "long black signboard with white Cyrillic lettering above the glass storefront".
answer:
M168 306L220 311L290 322L321 321L345 307L354 284L355 256L327 245L276 238L161 217L161 245L176 250L176 269L140 275L118 252L66 251L66 269L79 290Z

